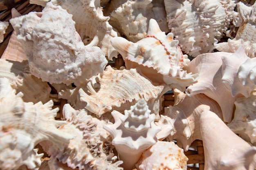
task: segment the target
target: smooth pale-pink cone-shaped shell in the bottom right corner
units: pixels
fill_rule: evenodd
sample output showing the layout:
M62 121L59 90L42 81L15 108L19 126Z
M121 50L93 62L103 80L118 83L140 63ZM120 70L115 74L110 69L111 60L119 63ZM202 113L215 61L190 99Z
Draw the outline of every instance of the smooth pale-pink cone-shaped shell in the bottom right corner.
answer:
M213 112L200 117L205 170L255 170L256 147L232 132Z

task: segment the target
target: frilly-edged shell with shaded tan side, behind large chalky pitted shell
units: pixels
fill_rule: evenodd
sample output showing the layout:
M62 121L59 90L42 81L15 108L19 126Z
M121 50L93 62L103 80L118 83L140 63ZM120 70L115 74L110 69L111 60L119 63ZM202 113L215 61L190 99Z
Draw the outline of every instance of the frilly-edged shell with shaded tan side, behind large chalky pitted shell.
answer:
M109 60L117 58L117 50L110 40L118 33L108 23L110 17L105 17L100 6L100 0L51 0L54 5L61 5L72 14L76 22L76 31L87 47L99 46Z

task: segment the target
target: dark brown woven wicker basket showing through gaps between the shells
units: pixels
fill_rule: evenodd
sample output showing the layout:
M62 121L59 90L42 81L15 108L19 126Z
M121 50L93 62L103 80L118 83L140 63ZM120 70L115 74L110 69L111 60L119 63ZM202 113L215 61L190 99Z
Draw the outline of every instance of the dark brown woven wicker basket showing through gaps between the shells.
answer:
M36 4L29 4L29 0L0 0L0 20L1 21L9 21L11 19L11 9L15 8L19 13L25 15L31 11L42 11L42 7ZM9 42L11 33L13 28L11 24L8 26L6 33L4 34L4 41L0 44L0 56L2 56L7 44ZM108 65L119 69L121 66L124 66L124 60L122 59L121 55L118 58L114 58L113 61L110 61ZM52 88L52 94L57 94L56 90ZM67 100L58 99L56 98L54 102L54 107L59 108L58 115L56 116L56 120L61 120L63 118L62 115L62 108L63 105L67 103ZM164 107L173 106L174 103L174 95L173 94L165 94L164 95L164 102L163 102L163 109ZM43 149L38 144L36 147L39 148L38 153L44 153ZM191 144L191 148L194 150L188 150L184 152L186 157L189 158L187 164L190 164L187 170L204 170L204 148L203 143L201 140L195 140ZM49 156L44 153L43 159L47 159ZM43 160L42 159L42 160ZM193 165L194 164L194 165ZM197 167L195 167L197 165ZM190 167L191 166L191 167Z

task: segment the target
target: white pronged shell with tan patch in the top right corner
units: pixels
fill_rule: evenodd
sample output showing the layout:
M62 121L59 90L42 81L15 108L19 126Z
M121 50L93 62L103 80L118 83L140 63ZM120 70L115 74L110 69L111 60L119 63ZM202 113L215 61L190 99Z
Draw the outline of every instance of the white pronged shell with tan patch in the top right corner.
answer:
M235 52L240 44L245 46L245 53L248 57L256 57L256 3L248 6L243 2L237 4L238 13L243 21L239 26L234 39L228 39L227 42L214 44L217 50L224 52Z

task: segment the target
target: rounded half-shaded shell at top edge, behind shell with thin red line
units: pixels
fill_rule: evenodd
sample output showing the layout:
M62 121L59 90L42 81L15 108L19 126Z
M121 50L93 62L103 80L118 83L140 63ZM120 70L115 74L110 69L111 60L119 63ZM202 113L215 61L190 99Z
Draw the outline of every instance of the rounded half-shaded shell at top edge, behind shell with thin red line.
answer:
M119 33L124 33L129 41L137 42L146 37L150 18L165 20L162 22L165 25L161 25L163 29L160 28L169 32L164 7L154 7L152 0L127 0L110 13L109 22Z

